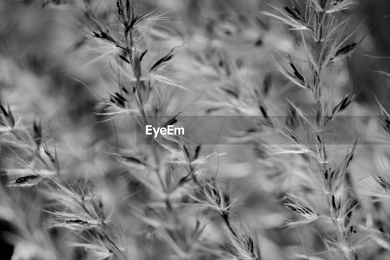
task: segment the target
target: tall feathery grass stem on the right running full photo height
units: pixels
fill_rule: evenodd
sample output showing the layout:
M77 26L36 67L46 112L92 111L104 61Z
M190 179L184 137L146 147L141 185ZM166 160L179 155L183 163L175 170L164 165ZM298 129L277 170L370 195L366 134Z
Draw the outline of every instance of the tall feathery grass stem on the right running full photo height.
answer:
M352 102L354 95L347 93L339 103L333 104L333 92L336 85L332 78L328 76L328 68L333 68L330 74L335 77L340 61L349 56L360 43L360 41L349 43L356 30L351 33L346 32L350 18L344 17L340 13L340 11L349 8L352 2L310 0L306 1L304 6L285 7L285 11L273 6L279 14L262 12L301 32L300 43L297 43L298 50L300 50L297 61L293 61L289 54L288 68L278 63L276 63L276 66L290 82L307 90L315 105L312 110L313 115L310 115L309 112L290 102L295 114L300 117L298 127L305 133L305 137L295 134L296 131L290 130L289 127L285 129L287 135L291 136L291 141L301 147L300 150L303 153L310 156L310 160L316 168L313 179L317 179L317 181L314 181L314 183L323 187L321 190L329 209L324 217L333 220L331 222L334 227L332 233L336 234L333 242L326 243L327 245L334 245L329 246L327 250L329 253L333 250L337 251L337 254L343 255L345 253L348 259L350 259L349 257L358 257L352 249L346 250L353 243L346 237L346 228L343 223L349 222L352 208L343 199L344 196L337 199L337 194L346 192L343 189L342 180L344 180L344 175L355 153L356 141L352 150L348 151L343 158L338 155L342 149L333 150L331 149L332 146L328 145L329 138L327 138L327 135L329 133L333 134L333 132L335 135L337 134L336 128L328 129L328 125L339 119L340 114ZM305 30L308 31L308 34L303 32ZM339 163L335 164L336 161L339 161ZM303 199L293 196L298 200ZM314 202L305 202L302 205L288 203L287 205L303 215L307 222L316 220L319 216L313 209ZM346 210L347 213L341 214L345 208L348 209ZM301 221L296 223L301 223ZM294 221L288 224L294 224ZM326 236L324 239L326 239Z

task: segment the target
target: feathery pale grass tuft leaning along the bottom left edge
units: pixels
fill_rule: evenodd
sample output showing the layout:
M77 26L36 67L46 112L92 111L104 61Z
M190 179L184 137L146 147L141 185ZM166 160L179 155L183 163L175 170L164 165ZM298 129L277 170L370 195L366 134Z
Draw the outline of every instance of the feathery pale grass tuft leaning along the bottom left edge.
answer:
M115 254L118 259L127 259L126 249L120 246L121 238L116 235L114 212L105 209L101 194L94 191L90 186L92 183L84 180L80 185L80 182L76 185L69 183L66 187L53 180L55 187L47 194L49 198L55 198L58 204L57 211L53 212L57 222L53 227L69 229L69 235L87 235L85 239L90 243L82 244L87 249L90 244L99 242L104 245L105 251Z

